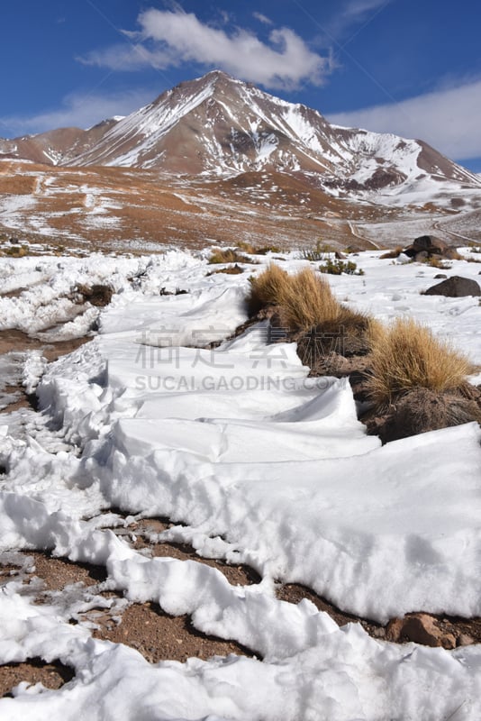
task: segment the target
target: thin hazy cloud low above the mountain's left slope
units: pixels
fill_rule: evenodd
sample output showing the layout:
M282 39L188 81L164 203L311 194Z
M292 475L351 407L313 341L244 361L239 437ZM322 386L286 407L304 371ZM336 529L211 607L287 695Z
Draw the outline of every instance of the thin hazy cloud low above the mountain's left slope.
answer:
M10 134L19 136L27 133L49 131L54 128L89 128L113 115L126 115L141 105L150 103L155 92L146 89L111 95L81 95L72 93L63 99L62 106L32 116L11 116L0 118Z

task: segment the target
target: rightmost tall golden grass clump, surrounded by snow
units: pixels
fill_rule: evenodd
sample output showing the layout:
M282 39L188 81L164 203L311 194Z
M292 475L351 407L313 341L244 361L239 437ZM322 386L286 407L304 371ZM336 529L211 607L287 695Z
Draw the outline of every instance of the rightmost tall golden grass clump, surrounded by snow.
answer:
M368 393L377 405L386 405L413 388L463 388L466 376L474 370L462 353L412 318L398 318L390 327L377 327L371 342Z

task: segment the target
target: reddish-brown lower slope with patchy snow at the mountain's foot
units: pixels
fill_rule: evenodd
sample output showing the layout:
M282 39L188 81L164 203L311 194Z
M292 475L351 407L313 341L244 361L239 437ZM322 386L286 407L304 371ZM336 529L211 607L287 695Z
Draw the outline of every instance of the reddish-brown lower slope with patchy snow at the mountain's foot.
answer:
M0 172L0 199L2 193L19 199L14 214L0 213L0 253L9 254L12 236L19 243L48 239L59 250L145 252L146 244L200 249L240 241L302 248L328 235L340 248L355 243L368 249L372 243L355 235L345 218L382 222L398 214L338 200L285 173L189 181L140 169L14 160L2 163Z

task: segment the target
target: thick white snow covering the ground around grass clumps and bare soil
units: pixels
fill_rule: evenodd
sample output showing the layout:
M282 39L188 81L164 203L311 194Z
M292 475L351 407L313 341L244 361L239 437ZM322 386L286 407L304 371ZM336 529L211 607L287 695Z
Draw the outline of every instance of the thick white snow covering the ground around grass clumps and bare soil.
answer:
M438 269L379 256L353 259L364 276L328 277L340 300L386 322L413 315L481 363L478 299L423 297ZM381 447L358 422L349 383L308 379L294 344L268 345L263 324L225 340L247 317L250 273L269 258L207 276L207 257L0 261L1 291L23 287L0 298L0 328L46 341L98 330L50 365L23 356L42 413L0 418L0 546L101 564L128 602L190 614L259 658L150 664L69 624L75 593L36 605L11 580L0 594L0 663L59 659L75 676L55 691L21 684L0 700L0 718L480 718L478 646L387 643L275 593L278 581L303 583L381 623L420 610L481 616L478 425ZM278 262L305 265L295 253ZM476 262L450 265L449 275L479 279ZM104 282L111 305L77 314L72 287ZM177 289L188 292L165 295ZM6 375L13 360L3 359ZM113 534L125 515L168 516L177 525L162 538L249 564L262 580L233 587L201 562L135 551Z

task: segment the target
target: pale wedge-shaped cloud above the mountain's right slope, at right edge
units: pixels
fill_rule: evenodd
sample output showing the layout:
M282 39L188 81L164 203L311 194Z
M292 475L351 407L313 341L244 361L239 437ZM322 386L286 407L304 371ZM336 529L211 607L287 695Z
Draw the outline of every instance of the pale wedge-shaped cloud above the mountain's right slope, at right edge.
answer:
M427 141L456 160L481 157L481 80L328 117L339 125Z

